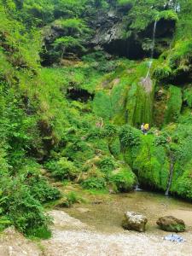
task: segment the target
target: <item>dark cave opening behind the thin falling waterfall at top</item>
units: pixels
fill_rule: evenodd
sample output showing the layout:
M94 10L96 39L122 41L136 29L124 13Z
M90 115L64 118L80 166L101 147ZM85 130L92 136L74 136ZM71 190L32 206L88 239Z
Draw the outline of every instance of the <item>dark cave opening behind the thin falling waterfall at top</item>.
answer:
M175 32L176 21L161 19L157 22L155 32L154 58L158 58L163 50L167 49L172 41ZM130 38L117 39L109 44L104 44L105 49L111 55L126 57L131 60L142 60L150 57L151 50L143 49L143 41L153 38L154 22L152 22L143 32L132 33Z

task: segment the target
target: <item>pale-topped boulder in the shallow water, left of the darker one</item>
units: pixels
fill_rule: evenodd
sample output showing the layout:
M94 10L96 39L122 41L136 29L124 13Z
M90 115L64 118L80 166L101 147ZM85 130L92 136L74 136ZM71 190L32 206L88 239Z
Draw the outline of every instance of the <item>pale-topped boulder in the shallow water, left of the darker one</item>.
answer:
M122 222L122 226L125 230L144 232L147 222L148 219L139 212L125 212L125 218Z

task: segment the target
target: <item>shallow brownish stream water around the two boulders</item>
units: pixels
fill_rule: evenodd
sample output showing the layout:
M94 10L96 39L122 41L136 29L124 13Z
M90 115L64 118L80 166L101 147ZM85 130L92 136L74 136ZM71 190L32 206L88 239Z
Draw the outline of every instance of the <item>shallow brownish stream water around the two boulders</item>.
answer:
M82 213L80 208L87 208ZM89 210L89 211L88 211ZM126 211L142 212L148 218L149 233L161 234L156 220L165 215L182 218L192 230L192 204L165 195L146 191L134 191L128 194L109 195L90 204L77 204L65 212L103 232L122 231L121 221Z

